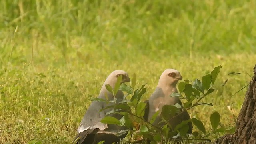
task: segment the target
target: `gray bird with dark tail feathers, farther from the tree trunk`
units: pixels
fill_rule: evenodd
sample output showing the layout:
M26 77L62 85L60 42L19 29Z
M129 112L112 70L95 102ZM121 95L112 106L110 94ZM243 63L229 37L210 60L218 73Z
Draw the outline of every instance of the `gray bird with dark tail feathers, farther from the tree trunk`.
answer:
M120 75L122 75L121 83L130 82L130 78L127 72L123 70L115 70L108 76L108 78L104 82L98 98L102 98L104 100L108 99L108 101L114 100L113 94L106 89L105 85L110 84L110 86L114 88L117 82L117 77ZM108 97L107 99L106 96ZM124 98L123 92L121 90L118 90L115 98L117 103L121 102ZM104 124L100 122L102 118L106 116L106 113L112 109L108 108L101 112L100 110L112 104L113 103L107 104L106 102L99 101L93 101L90 104L88 110L84 115L84 118L80 123L80 126L77 129L78 134L74 139L74 142L76 144L97 144L98 142L103 140L105 141L104 144L112 144L113 142L120 142L120 140L126 136L127 132L122 133L122 130L127 129L124 126ZM108 116L115 117L118 120L122 118L122 115L114 113Z

